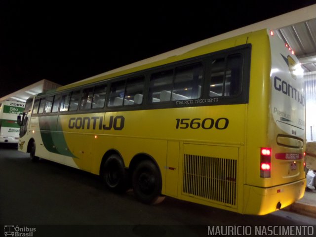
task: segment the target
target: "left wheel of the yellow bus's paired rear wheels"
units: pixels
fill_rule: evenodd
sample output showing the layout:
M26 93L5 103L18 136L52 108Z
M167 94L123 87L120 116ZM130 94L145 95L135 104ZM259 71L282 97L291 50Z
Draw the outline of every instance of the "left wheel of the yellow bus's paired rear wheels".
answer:
M106 187L116 193L123 193L127 190L127 174L122 159L113 154L104 162L102 179Z

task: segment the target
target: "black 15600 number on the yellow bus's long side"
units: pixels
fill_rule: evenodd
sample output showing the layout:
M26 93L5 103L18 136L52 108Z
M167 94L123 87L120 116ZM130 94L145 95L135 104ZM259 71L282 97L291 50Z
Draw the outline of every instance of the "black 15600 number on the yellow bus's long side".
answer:
M214 120L213 118L176 118L177 124L176 129L211 129L215 126L216 129L222 130L226 129L229 124L228 118L218 118Z

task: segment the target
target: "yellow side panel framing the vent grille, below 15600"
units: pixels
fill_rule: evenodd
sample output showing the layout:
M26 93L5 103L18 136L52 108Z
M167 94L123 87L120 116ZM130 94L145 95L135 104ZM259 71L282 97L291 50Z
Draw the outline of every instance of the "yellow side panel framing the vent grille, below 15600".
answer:
M235 211L242 209L243 147L183 143L179 198Z

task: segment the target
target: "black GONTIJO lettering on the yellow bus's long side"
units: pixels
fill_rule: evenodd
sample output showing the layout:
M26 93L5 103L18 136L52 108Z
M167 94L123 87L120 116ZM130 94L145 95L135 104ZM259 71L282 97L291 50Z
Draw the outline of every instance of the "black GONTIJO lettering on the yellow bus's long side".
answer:
M70 129L98 129L98 130L122 130L125 118L123 116L110 116L109 121L100 117L78 117L69 118L68 127Z

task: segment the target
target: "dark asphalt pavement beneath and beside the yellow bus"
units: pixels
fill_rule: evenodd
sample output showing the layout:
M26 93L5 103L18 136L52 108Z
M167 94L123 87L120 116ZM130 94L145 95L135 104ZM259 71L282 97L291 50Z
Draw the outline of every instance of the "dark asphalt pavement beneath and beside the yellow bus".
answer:
M209 225L315 224L316 218L294 211L241 215L170 197L158 205L145 205L132 191L123 195L109 192L96 175L44 159L34 163L28 154L0 147L0 225L4 226L48 225L49 229L69 225L70 230L82 230L92 225L91 230L101 225L114 228L120 236L126 231L130 236L145 237L153 236L144 234L148 232L156 236L206 236ZM45 236L56 236L54 230L46 230ZM82 230L86 232L89 230Z

